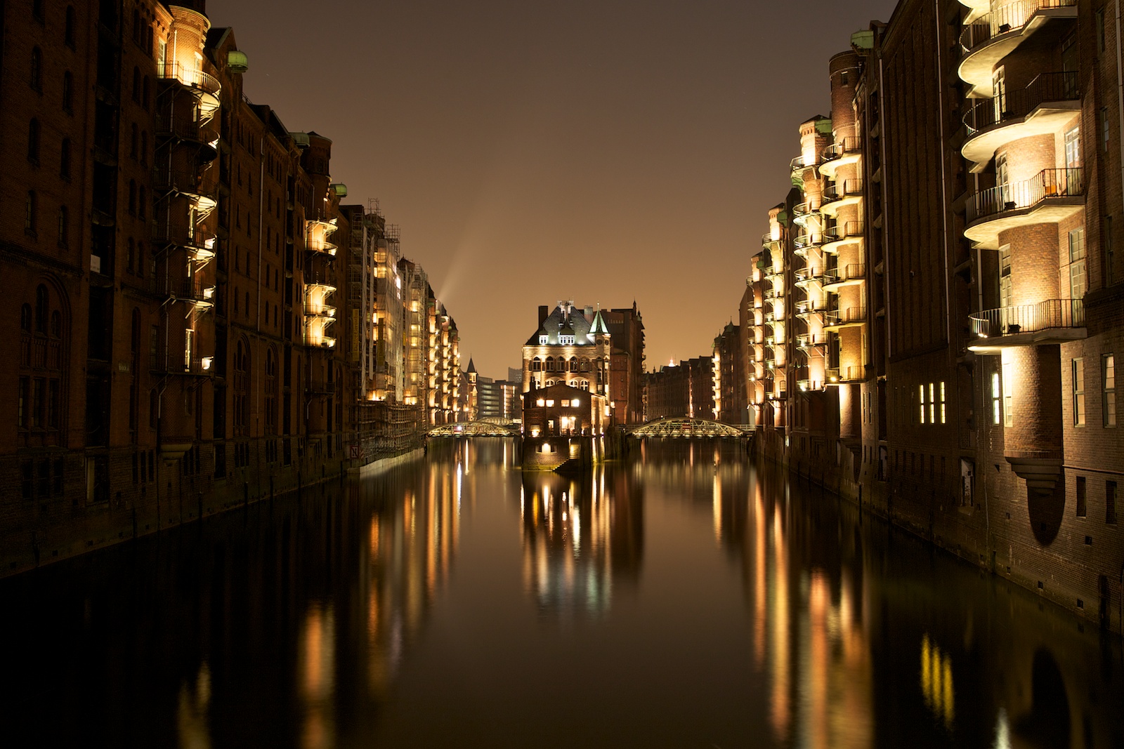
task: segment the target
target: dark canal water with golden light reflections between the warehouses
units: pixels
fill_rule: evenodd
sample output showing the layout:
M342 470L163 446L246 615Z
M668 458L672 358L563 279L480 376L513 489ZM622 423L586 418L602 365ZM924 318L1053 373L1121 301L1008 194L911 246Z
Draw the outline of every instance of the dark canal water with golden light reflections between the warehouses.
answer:
M1118 640L736 446L511 456L0 582L0 746L1124 747Z

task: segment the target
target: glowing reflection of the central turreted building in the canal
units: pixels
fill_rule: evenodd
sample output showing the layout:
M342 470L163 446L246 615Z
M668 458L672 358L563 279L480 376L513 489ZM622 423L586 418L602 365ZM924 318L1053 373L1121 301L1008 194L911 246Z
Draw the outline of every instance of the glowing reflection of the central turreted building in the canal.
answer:
M604 466L574 476L523 474L523 579L540 611L599 619L614 585L632 587L644 552L643 492Z

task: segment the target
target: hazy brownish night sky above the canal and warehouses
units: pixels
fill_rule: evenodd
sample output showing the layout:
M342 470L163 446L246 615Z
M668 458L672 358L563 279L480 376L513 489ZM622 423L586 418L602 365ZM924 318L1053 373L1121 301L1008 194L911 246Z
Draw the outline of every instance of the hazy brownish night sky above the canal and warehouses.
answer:
M540 304L637 303L647 366L737 319L827 60L895 0L211 0L246 95L333 139L504 378Z

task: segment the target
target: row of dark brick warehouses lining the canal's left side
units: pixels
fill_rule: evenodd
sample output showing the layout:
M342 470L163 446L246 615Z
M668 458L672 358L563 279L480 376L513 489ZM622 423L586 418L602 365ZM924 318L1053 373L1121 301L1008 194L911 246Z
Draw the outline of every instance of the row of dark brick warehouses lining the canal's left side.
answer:
M410 264L368 329L407 273L397 227L341 207L328 138L244 94L202 0L4 0L0 24L0 575L455 419L455 322Z

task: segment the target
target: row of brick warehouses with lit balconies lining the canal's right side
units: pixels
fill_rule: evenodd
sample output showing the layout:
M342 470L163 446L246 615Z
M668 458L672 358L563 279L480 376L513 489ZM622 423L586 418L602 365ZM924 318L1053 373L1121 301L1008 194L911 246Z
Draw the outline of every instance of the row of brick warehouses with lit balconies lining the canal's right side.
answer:
M763 453L1118 632L1115 12L901 0L854 34L742 305Z

